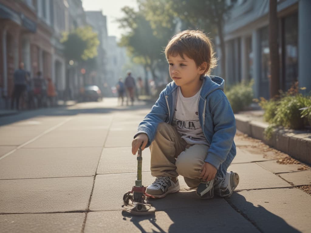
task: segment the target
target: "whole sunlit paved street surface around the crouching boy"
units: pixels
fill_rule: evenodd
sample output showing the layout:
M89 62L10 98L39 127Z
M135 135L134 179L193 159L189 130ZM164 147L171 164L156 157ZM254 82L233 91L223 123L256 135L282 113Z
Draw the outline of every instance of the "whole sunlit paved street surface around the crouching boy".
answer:
M0 117L0 232L311 232L311 169L237 133L230 198L181 191L148 200L155 216L122 214L137 160L131 142L152 104L117 98ZM150 151L142 152L150 185Z

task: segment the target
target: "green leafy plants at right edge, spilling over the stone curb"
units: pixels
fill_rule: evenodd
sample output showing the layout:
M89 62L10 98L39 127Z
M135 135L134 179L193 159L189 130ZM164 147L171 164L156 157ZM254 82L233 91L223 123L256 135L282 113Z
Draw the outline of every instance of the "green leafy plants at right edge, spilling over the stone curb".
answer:
M265 121L270 123L265 130L267 139L271 138L273 130L277 127L303 129L304 120L311 117L311 107L309 107L311 96L298 93L298 83L295 83L286 93L281 93L279 99L261 98L259 105L265 110ZM303 111L302 108L304 108Z

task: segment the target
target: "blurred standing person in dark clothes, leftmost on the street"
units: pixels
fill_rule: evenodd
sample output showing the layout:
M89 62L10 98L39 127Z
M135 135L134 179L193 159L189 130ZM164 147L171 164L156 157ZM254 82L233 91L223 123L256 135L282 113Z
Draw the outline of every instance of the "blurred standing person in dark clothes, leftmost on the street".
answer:
M26 91L27 72L24 70L24 63L21 62L19 69L14 71L14 90L12 94L11 109L14 109L14 103L16 103L16 109L19 110L21 94Z

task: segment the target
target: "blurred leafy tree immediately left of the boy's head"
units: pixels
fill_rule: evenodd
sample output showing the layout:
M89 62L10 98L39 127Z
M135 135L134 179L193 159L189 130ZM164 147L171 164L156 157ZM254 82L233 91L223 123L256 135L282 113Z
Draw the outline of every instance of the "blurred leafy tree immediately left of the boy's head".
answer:
M120 28L126 30L127 33L122 34L119 45L126 47L133 62L142 64L145 72L150 70L153 79L157 81L155 70L160 64L166 63L163 48L172 35L172 29L159 24L151 25L145 6L140 4L139 9L136 12L131 7L122 8L125 17L118 19L118 22ZM148 87L146 87L147 90Z

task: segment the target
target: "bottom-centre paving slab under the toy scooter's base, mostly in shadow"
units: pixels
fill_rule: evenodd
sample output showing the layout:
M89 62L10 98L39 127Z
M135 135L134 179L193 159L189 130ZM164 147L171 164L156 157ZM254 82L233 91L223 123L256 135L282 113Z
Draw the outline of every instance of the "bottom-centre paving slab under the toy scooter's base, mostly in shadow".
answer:
M164 200L164 199L162 199ZM225 212L226 218L223 218ZM151 216L129 216L121 211L90 212L88 232L259 232L228 203L213 203L204 207L174 208L157 211Z

